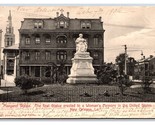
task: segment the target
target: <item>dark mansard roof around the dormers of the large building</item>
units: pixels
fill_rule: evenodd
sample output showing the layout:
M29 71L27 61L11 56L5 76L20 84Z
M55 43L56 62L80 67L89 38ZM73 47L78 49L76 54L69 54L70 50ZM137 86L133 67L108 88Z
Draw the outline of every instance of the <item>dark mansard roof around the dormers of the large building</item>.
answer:
M22 29L34 29L34 22L36 20L41 20L43 21L43 28L45 30L55 30L56 29L56 22L58 20L66 20L69 22L69 30L81 30L81 21L90 21L91 22L91 29L89 30L103 30L103 25L101 22L101 19L90 19L90 18L85 18L85 19L78 19L78 18L68 18L65 17L64 15L60 15L57 18L24 18L24 21L22 21L22 25L20 30Z

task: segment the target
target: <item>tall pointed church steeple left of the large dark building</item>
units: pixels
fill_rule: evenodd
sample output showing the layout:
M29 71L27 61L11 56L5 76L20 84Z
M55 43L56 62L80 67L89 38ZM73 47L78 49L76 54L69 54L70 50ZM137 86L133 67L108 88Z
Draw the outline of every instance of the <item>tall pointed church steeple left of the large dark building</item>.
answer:
M11 10L9 10L4 42L5 42L5 47L12 46L15 44L15 35L14 35L14 28L12 26Z

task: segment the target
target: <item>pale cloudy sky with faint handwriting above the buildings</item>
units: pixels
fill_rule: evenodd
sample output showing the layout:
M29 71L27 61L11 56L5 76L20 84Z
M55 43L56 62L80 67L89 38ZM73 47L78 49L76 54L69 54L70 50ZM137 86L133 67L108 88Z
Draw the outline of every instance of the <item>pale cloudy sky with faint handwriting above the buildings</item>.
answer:
M9 10L12 11L16 43L19 42L21 21L23 18L54 18L56 12L70 12L70 18L102 17L105 29L105 61L114 62L127 45L128 55L141 58L141 51L148 57L155 55L155 6L1 6L0 29L3 39Z

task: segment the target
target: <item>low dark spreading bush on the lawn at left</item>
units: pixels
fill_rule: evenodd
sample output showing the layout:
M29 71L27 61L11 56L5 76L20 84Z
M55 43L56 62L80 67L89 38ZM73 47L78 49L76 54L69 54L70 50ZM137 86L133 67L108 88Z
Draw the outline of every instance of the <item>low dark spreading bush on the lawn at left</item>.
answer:
M16 86L18 86L19 88L21 88L25 94L27 93L27 90L35 88L35 87L42 87L44 84L32 77L28 77L28 76L19 76L16 77L14 80Z

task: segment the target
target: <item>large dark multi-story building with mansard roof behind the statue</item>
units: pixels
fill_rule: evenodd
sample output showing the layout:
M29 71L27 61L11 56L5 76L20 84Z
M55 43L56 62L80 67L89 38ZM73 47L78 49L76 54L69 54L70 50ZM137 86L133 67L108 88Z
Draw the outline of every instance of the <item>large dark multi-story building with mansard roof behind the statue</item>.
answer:
M49 77L46 66L53 62L59 66L64 61L67 74L75 53L75 40L82 33L93 57L93 66L104 62L104 29L98 19L72 19L61 11L55 18L24 18L19 29L20 75Z

